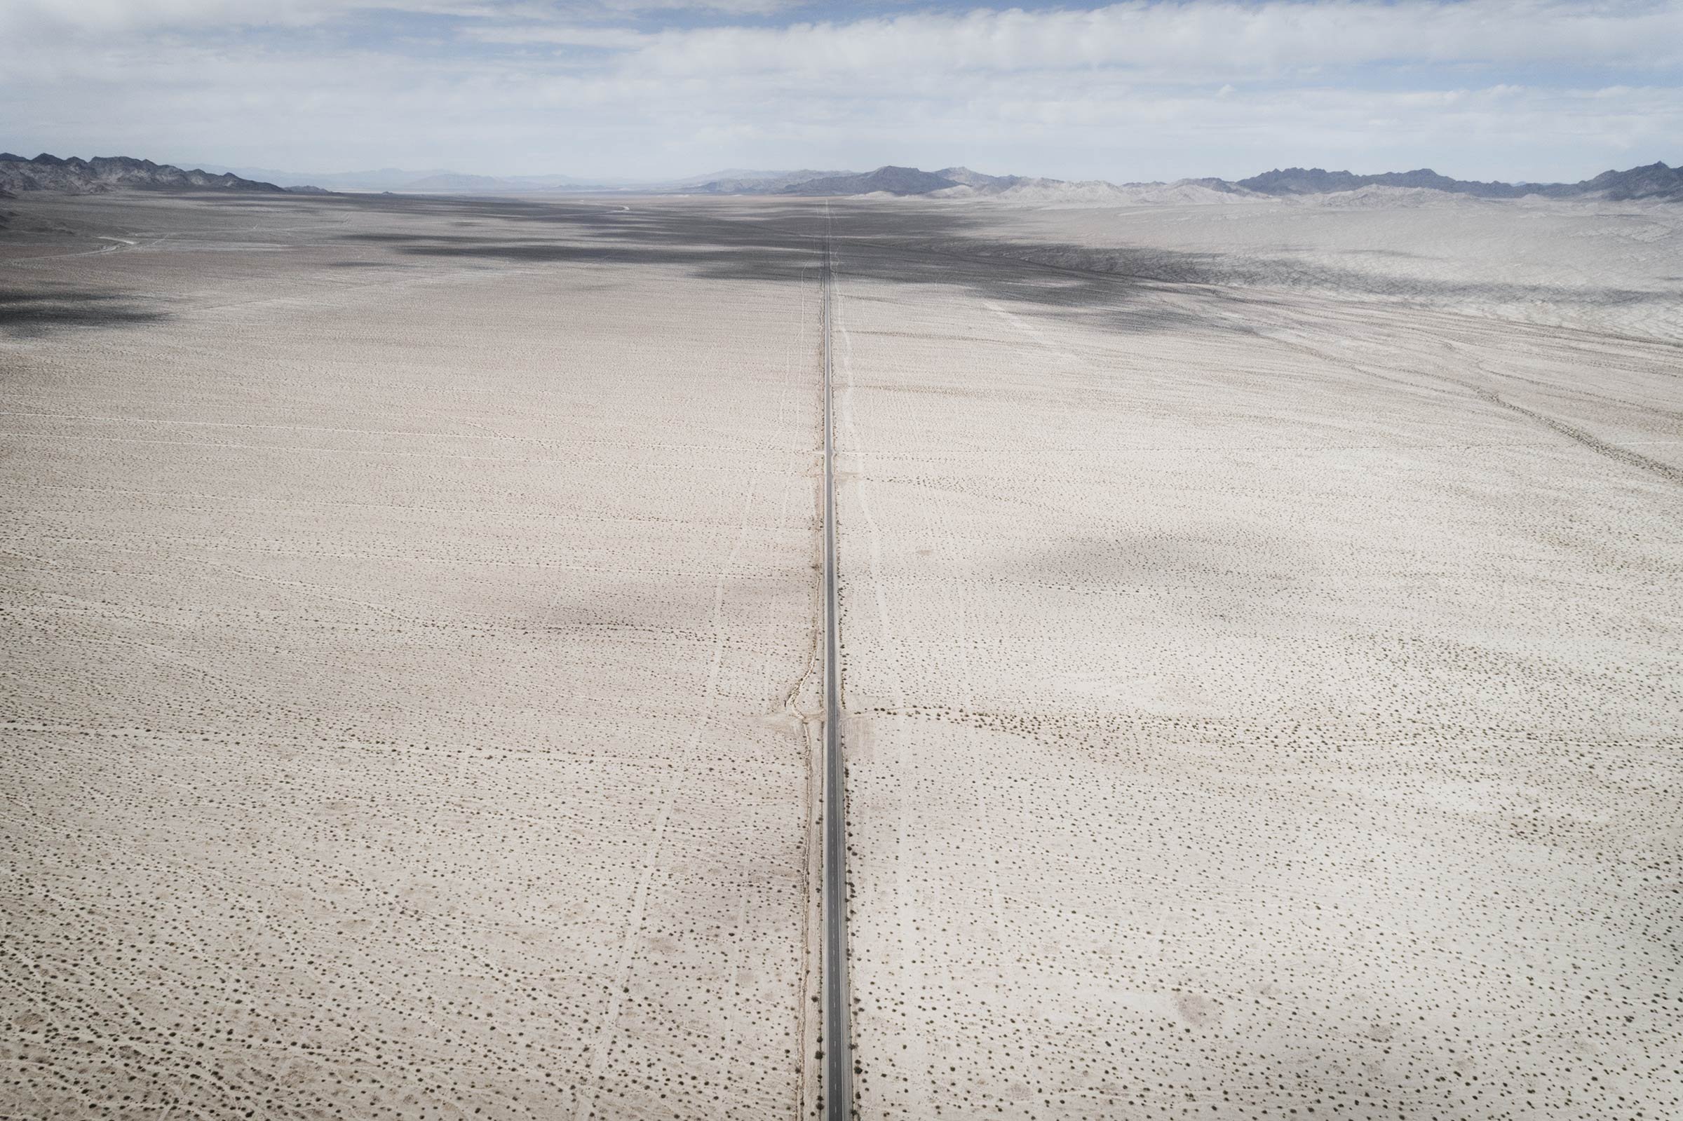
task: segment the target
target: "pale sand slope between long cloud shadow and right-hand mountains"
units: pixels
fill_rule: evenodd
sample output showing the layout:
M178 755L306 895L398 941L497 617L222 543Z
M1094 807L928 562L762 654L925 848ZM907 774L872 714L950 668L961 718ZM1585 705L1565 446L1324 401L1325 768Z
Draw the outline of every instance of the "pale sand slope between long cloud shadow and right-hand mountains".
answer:
M1683 342L1683 207L1370 187L1237 205L968 204L1038 259Z

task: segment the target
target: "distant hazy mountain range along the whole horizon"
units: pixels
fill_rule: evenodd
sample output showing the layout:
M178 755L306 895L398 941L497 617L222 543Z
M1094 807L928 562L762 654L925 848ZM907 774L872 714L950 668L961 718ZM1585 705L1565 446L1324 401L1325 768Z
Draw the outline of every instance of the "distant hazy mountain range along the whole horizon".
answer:
M261 175L261 178L259 178ZM1624 172L1602 172L1577 183L1501 183L1451 178L1431 168L1355 175L1318 167L1287 167L1229 182L1224 178L1183 178L1173 183L1107 183L1102 180L1067 182L1023 175L985 175L968 167L944 167L924 172L916 167L879 167L875 172L786 170L762 172L729 168L710 175L666 182L582 180L567 175L465 175L449 170L406 172L337 172L300 175L273 168L195 168L182 170L168 163L130 157L94 157L93 160L39 155L32 160L0 153L0 192L57 190L89 194L99 190L273 190L313 194L323 190L387 190L396 194L705 194L705 195L926 195L936 199L995 197L1023 202L1080 204L1163 204L1163 202L1245 202L1293 195L1330 195L1368 187L1436 190L1476 199L1663 199L1683 202L1683 168L1649 163Z

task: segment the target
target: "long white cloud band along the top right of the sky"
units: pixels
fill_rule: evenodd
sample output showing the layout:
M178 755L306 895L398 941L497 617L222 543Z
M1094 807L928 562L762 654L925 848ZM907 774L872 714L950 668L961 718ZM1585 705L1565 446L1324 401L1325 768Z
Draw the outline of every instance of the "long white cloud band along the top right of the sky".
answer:
M1680 56L1676 3L1138 0L1091 12L1013 8L666 32L641 47L636 62L668 74L1133 67L1276 76L1387 62L1675 66Z

